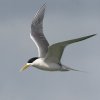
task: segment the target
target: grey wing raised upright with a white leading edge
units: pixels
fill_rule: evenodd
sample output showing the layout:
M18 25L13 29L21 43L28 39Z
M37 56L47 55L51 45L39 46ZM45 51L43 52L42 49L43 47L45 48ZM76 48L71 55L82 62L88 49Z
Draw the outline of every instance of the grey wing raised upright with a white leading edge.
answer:
M43 18L46 4L44 4L35 14L31 24L30 37L38 48L39 57L45 57L49 43L43 34Z

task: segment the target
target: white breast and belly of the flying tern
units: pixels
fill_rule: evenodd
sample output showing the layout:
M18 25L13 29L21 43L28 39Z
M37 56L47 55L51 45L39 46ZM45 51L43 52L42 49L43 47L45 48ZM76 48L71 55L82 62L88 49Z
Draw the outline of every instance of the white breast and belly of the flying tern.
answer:
M57 71L61 68L59 64L53 62L45 62L42 58L35 60L32 66L47 71Z

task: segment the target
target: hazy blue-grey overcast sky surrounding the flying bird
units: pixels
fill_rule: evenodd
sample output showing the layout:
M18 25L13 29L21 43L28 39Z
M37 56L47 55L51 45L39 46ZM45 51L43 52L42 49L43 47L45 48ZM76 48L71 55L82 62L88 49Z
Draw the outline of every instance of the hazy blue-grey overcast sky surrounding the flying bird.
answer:
M30 24L45 0L0 0L0 100L100 100L100 0L46 0L50 44L95 34L68 46L62 63L88 73L19 72L37 48Z

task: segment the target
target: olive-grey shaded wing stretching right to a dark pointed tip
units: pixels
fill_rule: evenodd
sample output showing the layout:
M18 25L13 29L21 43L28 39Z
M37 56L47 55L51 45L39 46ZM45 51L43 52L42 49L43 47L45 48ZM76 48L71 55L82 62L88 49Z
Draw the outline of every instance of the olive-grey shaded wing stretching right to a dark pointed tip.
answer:
M64 48L67 45L75 43L75 42L79 42L79 41L82 41L82 40L85 40L85 39L88 39L88 38L90 38L92 36L95 36L95 35L96 34L53 44L53 45L49 46L48 53L45 57L45 60L59 63L60 59L61 59L61 56L62 56L62 53L64 51Z

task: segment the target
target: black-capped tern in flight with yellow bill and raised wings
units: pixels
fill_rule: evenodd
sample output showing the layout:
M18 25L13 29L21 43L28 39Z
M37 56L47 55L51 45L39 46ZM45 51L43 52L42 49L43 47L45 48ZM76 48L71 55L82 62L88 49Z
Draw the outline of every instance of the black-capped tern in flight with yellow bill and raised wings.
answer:
M71 39L59 43L49 45L43 34L43 18L45 13L46 4L44 4L35 14L32 24L30 37L38 48L38 57L34 57L28 60L28 62L21 68L20 71L24 71L30 66L36 67L45 71L79 71L69 66L61 64L61 57L66 46L86 40L96 34L80 37L77 39Z

